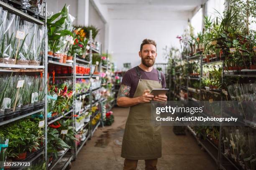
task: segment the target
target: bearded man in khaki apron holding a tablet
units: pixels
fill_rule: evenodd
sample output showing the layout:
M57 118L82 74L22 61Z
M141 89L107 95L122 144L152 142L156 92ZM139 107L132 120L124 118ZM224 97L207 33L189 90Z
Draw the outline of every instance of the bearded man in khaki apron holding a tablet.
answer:
M154 101L166 102L166 95L155 96L154 88L165 88L164 74L153 65L156 59L156 42L145 39L139 51L141 64L125 72L118 92L117 104L131 107L125 124L121 157L125 158L123 170L136 170L138 160L145 160L146 170L157 170L161 157L161 124L151 120Z

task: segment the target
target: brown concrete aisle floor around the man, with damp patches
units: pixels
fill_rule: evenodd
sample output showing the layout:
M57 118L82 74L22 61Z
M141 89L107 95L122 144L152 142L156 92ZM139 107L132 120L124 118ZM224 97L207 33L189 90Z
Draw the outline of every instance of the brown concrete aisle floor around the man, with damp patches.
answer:
M124 159L120 157L128 108L113 108L115 122L98 128L91 140L82 148L71 170L122 170ZM144 170L143 160L137 170ZM162 127L162 158L158 170L217 170L212 158L197 145L195 138L177 136L172 127Z

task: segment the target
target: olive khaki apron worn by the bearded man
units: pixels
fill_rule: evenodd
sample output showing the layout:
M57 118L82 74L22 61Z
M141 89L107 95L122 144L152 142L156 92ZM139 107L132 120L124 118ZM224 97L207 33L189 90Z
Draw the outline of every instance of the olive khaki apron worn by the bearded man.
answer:
M158 79L141 80L138 66L135 67L139 78L138 86L133 97L140 97L144 90L162 88L161 73ZM151 104L141 103L131 106L125 124L121 157L130 160L157 159L162 155L161 122L151 120Z

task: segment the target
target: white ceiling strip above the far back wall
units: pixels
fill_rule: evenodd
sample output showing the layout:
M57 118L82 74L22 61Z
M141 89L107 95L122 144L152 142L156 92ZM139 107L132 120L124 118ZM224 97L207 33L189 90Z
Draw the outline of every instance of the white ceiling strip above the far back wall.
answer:
M206 0L100 0L109 10L192 11Z

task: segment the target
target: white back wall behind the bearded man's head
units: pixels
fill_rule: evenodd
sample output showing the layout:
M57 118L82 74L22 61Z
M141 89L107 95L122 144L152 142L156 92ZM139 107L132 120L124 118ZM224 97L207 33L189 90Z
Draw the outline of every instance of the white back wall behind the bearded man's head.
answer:
M177 35L182 35L187 27L190 13L186 12L160 12L141 11L129 12L129 15L116 11L110 12L110 49L113 52L113 61L117 69L123 68L123 63L131 62L132 67L141 62L138 56L143 39L156 41L156 63L165 63L163 48L167 45L180 47ZM119 15L118 15L119 13ZM136 19L134 19L136 18Z

